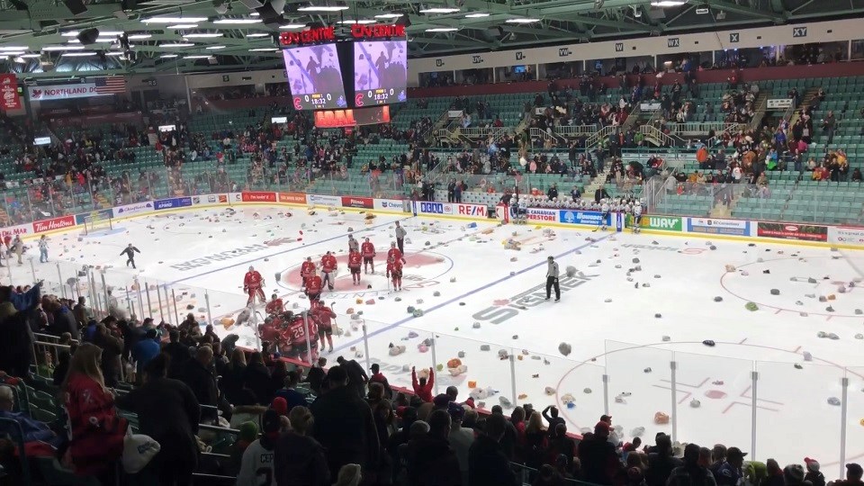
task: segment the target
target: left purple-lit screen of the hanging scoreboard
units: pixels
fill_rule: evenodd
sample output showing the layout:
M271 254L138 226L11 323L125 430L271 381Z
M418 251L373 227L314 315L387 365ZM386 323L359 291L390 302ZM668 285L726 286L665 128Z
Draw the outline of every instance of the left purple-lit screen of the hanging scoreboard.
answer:
M347 107L336 44L284 49L282 55L295 110Z

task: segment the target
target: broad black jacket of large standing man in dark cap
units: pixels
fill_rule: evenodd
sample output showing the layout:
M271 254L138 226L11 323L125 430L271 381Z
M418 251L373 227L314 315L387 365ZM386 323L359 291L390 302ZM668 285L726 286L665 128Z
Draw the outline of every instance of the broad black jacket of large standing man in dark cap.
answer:
M360 464L364 471L378 464L378 433L372 409L350 386L324 393L310 407L315 437L327 451L330 473L338 476L345 464Z

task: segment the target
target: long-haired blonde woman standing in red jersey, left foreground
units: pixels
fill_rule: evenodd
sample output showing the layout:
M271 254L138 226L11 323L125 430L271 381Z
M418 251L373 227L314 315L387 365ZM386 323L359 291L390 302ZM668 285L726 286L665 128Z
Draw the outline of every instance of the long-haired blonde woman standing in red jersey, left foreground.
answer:
M123 451L126 419L117 416L114 397L105 388L102 349L83 343L72 355L61 390L72 430L69 453L75 473L114 484L115 461Z

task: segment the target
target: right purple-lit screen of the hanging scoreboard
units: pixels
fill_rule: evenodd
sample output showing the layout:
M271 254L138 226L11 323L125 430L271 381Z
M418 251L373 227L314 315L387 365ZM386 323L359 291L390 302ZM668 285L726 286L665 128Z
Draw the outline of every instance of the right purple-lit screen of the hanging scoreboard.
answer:
M355 106L400 103L407 99L408 43L358 40L354 43Z

